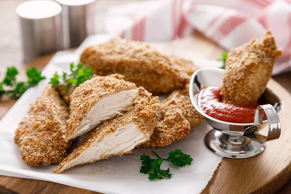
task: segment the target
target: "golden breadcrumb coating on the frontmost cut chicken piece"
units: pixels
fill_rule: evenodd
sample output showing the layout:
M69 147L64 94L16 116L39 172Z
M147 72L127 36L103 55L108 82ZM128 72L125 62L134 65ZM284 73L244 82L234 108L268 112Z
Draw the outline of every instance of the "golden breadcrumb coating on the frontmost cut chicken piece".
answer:
M159 101L159 97L151 97L151 94L148 93L144 88L139 87L139 97L137 97L132 106L129 106L123 115L119 115L112 120L107 120L102 123L97 129L94 129L91 134L82 140L82 142L78 145L77 148L73 150L73 152L68 155L63 162L55 169L54 173L62 172L62 168L67 162L72 161L73 159L80 156L82 152L88 149L95 143L95 140L99 139L100 136L104 137L110 133L113 133L116 129L125 126L131 122L134 122L136 127L140 129L145 135L146 140L149 139L153 130L157 126L159 116L161 114L161 104ZM122 156L123 154L131 153L131 151L126 153L117 153L111 154L102 157L102 159L107 159L112 156ZM96 161L90 161L87 163L92 163Z

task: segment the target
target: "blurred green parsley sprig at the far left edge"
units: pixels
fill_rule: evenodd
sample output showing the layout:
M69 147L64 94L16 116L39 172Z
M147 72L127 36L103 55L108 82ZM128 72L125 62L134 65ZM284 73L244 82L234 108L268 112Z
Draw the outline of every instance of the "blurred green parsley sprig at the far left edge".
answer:
M7 67L6 76L4 80L0 82L0 97L5 94L11 98L18 99L28 88L34 87L40 81L46 79L44 76L41 76L41 72L37 71L35 67L27 69L26 75L28 81L26 82L17 81L16 75L18 75L16 67Z

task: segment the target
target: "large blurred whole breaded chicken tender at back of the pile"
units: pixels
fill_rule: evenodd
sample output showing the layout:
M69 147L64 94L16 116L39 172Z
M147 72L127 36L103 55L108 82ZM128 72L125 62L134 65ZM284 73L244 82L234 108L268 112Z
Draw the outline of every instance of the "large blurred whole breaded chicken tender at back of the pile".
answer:
M120 38L85 49L80 61L97 75L122 74L125 81L155 95L184 88L190 80L188 74L196 69L192 62L162 54L146 43Z

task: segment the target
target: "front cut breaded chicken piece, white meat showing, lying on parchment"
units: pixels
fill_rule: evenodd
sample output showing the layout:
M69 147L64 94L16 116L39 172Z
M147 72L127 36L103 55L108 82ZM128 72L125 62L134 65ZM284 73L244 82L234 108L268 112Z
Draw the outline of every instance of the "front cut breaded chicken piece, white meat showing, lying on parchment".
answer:
M69 168L121 156L147 140L152 135L161 113L158 97L139 88L139 97L123 115L102 123L82 140L74 151L55 169L61 173Z

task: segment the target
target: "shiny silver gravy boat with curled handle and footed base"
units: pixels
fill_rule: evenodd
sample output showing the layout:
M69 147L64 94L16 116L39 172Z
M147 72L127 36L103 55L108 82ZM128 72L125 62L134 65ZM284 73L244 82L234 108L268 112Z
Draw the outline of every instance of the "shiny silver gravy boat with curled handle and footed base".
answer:
M254 123L230 123L210 117L201 109L199 94L203 88L221 86L223 69L201 68L194 72L190 82L190 98L195 109L213 128L205 137L206 146L214 153L227 158L249 158L265 150L265 142L278 139L281 133L279 116L284 102L272 90L266 89L256 109ZM267 120L263 120L265 112ZM267 130L267 135L260 134Z

